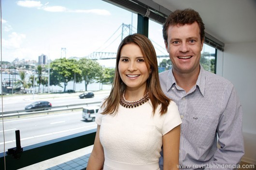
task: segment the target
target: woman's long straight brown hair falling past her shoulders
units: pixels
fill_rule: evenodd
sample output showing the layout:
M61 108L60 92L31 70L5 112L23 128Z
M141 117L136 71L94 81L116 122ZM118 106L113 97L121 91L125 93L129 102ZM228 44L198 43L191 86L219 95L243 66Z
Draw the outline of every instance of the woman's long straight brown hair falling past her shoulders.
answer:
M126 85L123 83L118 70L120 53L122 47L126 44L136 44L140 47L147 68L151 71L149 78L147 79L146 91L149 92L149 98L153 106L153 114L155 114L158 105L161 105L161 115L166 113L171 100L162 92L160 86L155 48L147 37L141 34L132 34L123 39L118 47L113 86L110 95L103 102L103 112L101 114L116 114L120 103L120 97L126 89Z

